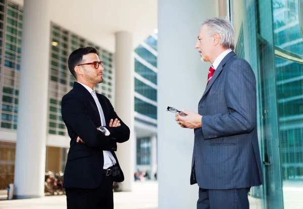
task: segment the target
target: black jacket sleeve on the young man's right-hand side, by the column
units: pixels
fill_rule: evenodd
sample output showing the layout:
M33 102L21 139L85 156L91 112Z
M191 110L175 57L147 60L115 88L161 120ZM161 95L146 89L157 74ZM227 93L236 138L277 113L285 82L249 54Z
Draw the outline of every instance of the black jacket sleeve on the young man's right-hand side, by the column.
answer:
M105 127L111 133L111 135L109 137L111 137L112 140L114 140L118 143L126 142L127 140L129 140L130 130L126 126L126 124L121 120L121 118L117 115L117 113L115 112L115 109L114 109L113 105L111 104L110 100L108 98L106 98L106 100L107 100L107 102L109 104L109 107L110 107L110 117L111 117L111 119L118 118L118 120L120 120L120 124L121 124L120 127L109 127L109 126Z

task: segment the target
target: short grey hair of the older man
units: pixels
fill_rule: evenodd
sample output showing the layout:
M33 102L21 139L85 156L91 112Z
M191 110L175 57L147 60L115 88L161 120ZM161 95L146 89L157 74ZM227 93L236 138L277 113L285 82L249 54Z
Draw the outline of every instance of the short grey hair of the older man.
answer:
M227 20L221 18L212 18L203 22L203 25L208 26L208 30L211 36L218 33L221 38L220 44L224 49L234 50L235 32L233 26Z

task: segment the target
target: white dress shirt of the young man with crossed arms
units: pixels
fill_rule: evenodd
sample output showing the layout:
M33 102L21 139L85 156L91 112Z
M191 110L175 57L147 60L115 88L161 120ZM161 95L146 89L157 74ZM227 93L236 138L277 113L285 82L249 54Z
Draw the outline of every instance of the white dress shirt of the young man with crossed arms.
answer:
M80 83L80 82L78 82ZM102 109L99 109L99 106L101 107L101 104L99 103L97 97L93 95L96 94L92 94L92 92L95 92L94 89L90 89L88 86L84 85L83 83L80 83L92 96L92 98L94 99L96 106L98 108L99 114L100 114L100 120L101 120L101 126L106 126L106 124L103 124L103 119L101 118L103 114L101 114L100 111L103 111ZM101 107L102 108L102 107ZM105 128L106 129L106 128ZM109 132L109 130L106 129L106 136L109 136L111 133ZM113 166L114 164L116 164L116 159L113 156L113 154L110 151L103 151L103 157L104 157L104 165L103 165L103 169L108 169L111 166Z

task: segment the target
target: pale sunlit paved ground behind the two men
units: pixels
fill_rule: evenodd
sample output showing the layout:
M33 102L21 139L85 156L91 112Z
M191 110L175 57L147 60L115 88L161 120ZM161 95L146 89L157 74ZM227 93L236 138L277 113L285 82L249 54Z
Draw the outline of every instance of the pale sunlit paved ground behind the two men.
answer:
M283 187L284 208L303 208L303 182L284 182ZM6 192L0 192L5 197ZM158 209L158 183L135 182L132 192L114 193L115 209ZM251 209L262 209L262 199L249 196ZM0 209L51 209L66 208L66 197L46 196L37 199L0 200Z

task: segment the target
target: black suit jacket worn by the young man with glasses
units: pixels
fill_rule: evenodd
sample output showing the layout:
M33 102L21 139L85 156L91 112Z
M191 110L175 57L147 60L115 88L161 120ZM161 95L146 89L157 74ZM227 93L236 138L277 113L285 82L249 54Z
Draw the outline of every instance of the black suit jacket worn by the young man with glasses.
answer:
M129 139L130 130L118 117L109 99L101 94L96 95L106 123L109 124L110 119L118 118L121 126L106 126L109 136L98 131L96 128L101 126L101 120L96 103L80 83L74 82L74 88L62 98L62 118L71 138L64 172L64 188L97 188L103 176L103 150L111 151L119 165L114 152L117 150L117 143ZM85 144L76 142L78 136Z

